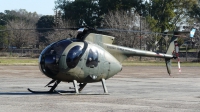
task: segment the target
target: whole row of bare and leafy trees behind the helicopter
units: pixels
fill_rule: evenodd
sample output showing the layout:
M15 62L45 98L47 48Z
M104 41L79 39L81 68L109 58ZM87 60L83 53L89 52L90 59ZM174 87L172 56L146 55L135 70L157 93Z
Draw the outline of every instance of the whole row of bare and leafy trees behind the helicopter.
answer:
M188 29L200 21L198 0L57 0L57 15L38 15L26 10L0 13L0 29L35 29L89 26L146 32L174 31L177 25L187 24ZM116 44L155 50L163 35L140 32L112 32ZM59 39L75 35L72 31L57 30L9 30L0 32L4 46L45 46ZM199 39L196 33L195 42ZM161 42L167 46L168 37ZM180 43L184 40L180 39ZM164 43L164 44L163 44Z

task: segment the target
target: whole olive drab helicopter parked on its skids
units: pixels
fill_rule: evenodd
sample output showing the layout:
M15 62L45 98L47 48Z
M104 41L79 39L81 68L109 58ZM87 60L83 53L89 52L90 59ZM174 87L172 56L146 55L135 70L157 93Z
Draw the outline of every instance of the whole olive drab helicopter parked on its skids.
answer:
M45 86L50 87L50 90L33 91L28 88L28 91L65 94L66 92L55 90L62 81L73 82L73 93L80 94L87 83L102 82L104 94L108 94L105 80L122 71L121 63L129 56L164 58L169 74L171 74L171 59L179 59L177 37L182 32L174 32L168 50L163 54L113 45L115 37L101 30L85 27L74 29L78 30L76 38L54 42L39 56L40 71L52 79ZM180 68L180 63L178 65Z

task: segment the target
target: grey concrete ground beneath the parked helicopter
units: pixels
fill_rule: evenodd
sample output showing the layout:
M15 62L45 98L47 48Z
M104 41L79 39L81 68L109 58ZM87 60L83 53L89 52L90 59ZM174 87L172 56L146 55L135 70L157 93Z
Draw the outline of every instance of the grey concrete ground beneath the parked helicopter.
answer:
M126 66L106 80L110 95L33 94L50 81L37 66L0 66L0 112L199 112L199 67ZM60 83L69 90L72 83ZM103 93L101 82L82 93Z

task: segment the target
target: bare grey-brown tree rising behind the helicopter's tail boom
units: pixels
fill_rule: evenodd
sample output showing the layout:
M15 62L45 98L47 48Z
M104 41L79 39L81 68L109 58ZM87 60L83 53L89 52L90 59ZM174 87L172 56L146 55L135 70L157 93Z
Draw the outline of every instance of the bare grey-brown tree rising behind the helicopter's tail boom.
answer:
M104 26L109 29L119 29L113 32L115 44L139 48L140 46L140 15L126 11L109 12L104 19ZM145 19L141 18L141 30L148 30ZM129 30L133 32L129 32ZM136 31L136 32L134 32ZM144 35L143 35L144 37Z

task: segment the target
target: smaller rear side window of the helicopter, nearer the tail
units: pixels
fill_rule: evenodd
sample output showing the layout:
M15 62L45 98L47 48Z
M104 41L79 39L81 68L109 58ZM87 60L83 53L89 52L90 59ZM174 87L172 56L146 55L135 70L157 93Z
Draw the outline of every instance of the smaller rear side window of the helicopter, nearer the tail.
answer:
M96 49L89 50L86 66L90 68L94 68L98 66L98 52Z

